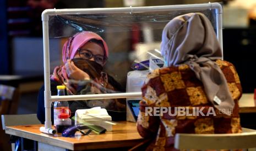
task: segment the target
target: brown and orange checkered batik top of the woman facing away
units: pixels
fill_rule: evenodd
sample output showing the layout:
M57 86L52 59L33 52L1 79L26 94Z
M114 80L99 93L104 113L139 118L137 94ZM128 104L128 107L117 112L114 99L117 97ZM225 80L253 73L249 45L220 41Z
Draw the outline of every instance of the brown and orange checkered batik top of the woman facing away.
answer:
M140 113L137 128L142 137L152 138L148 150L176 150L173 148L175 133L240 133L238 100L242 88L238 74L232 63L215 61L224 73L235 107L226 115L214 108L205 95L203 84L197 79L188 65L156 69L148 75L141 88L143 100L140 101ZM171 113L150 116L145 107L171 107ZM198 107L202 114L181 115L175 113L175 107L187 107L188 113ZM178 112L179 110L177 110ZM153 113L153 112L151 112ZM154 139L153 139L154 138Z

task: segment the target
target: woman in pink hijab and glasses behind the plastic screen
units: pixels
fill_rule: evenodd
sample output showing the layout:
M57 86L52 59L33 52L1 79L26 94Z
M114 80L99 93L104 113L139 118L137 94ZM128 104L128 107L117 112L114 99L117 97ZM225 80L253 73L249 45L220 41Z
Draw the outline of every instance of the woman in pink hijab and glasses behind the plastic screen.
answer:
M63 45L63 65L55 67L51 75L51 95L57 95L57 85L65 85L67 95L123 91L115 79L102 72L107 59L107 44L98 34L83 31L70 37ZM42 87L39 91L37 106L37 118L41 123L45 121L43 90ZM69 108L73 114L77 109L98 106L110 112L125 111L125 101L120 99L69 101Z

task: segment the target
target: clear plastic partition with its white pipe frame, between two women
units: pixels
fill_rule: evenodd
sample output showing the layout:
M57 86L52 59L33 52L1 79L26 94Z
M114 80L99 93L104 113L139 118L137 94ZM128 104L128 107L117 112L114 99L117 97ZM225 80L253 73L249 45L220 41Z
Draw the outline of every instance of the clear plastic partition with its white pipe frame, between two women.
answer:
M209 18L222 45L222 9L219 3L46 10L45 14L42 14L42 20L45 20L43 21L43 40L46 109L49 110L50 107L50 103L47 102L56 100L99 100L140 96L140 91L126 92L127 73L133 71L134 62L148 60L151 55L161 57L157 50L160 51L161 34L165 25L178 15L192 12L203 13ZM46 33L47 30L48 33ZM115 79L123 89L108 91L107 94L51 96L49 77L56 66L63 65L63 44L69 37L82 31L95 32L106 41L109 57L103 71ZM59 48L51 47L56 40L59 43ZM49 60L47 59L48 54L50 54ZM46 114L48 117L48 112Z

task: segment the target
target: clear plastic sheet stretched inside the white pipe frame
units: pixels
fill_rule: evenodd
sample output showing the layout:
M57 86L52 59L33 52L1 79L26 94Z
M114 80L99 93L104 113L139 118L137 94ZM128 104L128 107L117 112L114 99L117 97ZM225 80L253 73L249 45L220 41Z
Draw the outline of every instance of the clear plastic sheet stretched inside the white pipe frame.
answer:
M112 82L108 81L108 84L111 84L113 89L109 89L111 87L107 88L105 84L95 82L95 80L90 80L90 86L96 85L95 88L99 90L86 91L80 94L127 92L127 74L133 71L134 63L149 60L151 56L161 59L159 52L163 28L176 16L192 12L205 14L216 32L215 9L51 15L48 21L50 54L54 54L50 56L51 74L56 66L64 65L62 47L68 38L78 32L91 31L99 34L108 45L109 56L102 72L107 73L108 80L111 78ZM56 39L59 42L59 49L51 47L53 42L56 43ZM67 83L77 88L77 85L83 85L83 80L71 79ZM115 89L115 86L121 88ZM140 88L136 89L135 92L139 91ZM76 93L76 91L73 92L73 95L79 94ZM122 98L86 100L78 103L78 106L89 108L101 106L107 110L121 112L126 110L125 105L125 99Z

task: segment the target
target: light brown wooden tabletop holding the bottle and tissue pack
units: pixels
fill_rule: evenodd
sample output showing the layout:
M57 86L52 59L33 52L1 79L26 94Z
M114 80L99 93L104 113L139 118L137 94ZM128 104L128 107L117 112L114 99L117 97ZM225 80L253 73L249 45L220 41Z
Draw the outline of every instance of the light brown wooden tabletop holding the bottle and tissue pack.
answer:
M43 125L7 126L6 133L70 150L115 147L132 148L143 141L143 138L137 132L136 123L129 121L118 122L117 125L113 125L111 132L101 135L91 132L88 136L82 136L80 133L76 133L75 137L48 135L39 131L41 126Z

